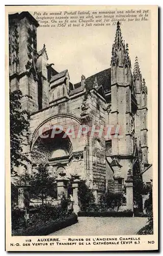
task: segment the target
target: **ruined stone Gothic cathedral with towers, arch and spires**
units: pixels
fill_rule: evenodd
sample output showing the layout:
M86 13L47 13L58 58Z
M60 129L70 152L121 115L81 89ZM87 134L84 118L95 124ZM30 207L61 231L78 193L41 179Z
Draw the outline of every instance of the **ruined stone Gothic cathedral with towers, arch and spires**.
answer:
M58 72L57 63L53 68L48 62L45 45L37 49L38 26L29 12L9 15L10 90L20 89L31 96L22 101L22 108L30 112L30 136L28 146L24 147L32 162L29 173L39 164L46 164L53 177L60 176L59 191L66 191L65 180L74 175L78 177L74 191L77 180L85 179L96 202L102 191L109 189L123 193L123 209L133 210L134 177L152 182L152 165L148 163L147 86L138 57L131 70L128 45L118 22L113 47L108 49L112 50L108 69L87 78L81 74L81 80L73 84L68 70ZM63 127L63 131L55 138L46 137L53 133L53 125ZM114 136L116 131L112 129L108 138L104 133L69 135L69 127L73 126L74 134L78 134L81 125L96 129L120 125L121 134L118 131L118 136ZM22 167L17 171L20 174ZM62 173L64 177L59 175Z

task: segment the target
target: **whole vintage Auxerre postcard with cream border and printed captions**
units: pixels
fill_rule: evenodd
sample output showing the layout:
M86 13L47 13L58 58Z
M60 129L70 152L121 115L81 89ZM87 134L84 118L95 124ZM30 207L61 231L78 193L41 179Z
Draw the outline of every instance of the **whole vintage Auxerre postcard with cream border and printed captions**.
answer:
M6 250L158 249L157 6L6 6Z

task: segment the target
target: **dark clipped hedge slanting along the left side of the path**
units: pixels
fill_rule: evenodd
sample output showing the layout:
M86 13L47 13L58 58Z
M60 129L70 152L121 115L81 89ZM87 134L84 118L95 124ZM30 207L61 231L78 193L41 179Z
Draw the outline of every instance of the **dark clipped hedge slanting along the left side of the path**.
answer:
M12 231L12 236L47 236L50 233L56 232L62 228L71 226L77 223L77 215L72 214L64 220L55 220L47 223L37 223L35 226L29 226L26 229L21 228Z

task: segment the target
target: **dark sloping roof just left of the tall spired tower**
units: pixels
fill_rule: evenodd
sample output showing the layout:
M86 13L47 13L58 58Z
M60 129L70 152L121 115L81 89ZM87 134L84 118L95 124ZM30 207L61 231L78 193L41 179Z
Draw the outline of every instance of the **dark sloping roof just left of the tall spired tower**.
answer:
M86 79L86 89L93 89L95 77L97 78L98 86L102 85L104 92L111 91L111 68L105 69L96 73ZM81 86L81 82L75 83L74 88L78 88Z

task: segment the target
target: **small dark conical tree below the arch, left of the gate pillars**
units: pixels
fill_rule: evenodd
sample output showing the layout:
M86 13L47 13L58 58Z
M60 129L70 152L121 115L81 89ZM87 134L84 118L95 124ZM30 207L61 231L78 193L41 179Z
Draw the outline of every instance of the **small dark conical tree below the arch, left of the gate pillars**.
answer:
M55 179L50 177L46 165L40 164L37 173L31 180L31 198L41 199L42 205L46 204L47 197L56 197Z

